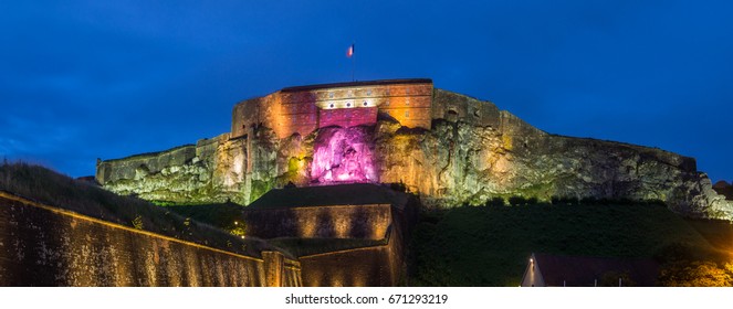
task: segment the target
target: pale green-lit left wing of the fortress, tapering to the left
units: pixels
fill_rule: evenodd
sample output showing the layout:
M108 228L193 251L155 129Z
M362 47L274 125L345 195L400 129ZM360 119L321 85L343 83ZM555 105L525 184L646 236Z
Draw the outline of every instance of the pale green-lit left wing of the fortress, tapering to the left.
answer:
M145 200L242 202L249 201L249 190L244 190L248 162L247 139L223 134L201 139L182 152L176 148L102 161L96 177L109 191Z

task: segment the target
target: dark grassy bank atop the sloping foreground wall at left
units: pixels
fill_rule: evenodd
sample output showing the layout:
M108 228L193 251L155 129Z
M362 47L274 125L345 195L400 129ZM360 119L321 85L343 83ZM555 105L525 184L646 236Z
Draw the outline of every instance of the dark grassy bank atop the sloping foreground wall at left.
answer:
M258 256L268 247L262 241L241 239L147 201L121 196L38 166L1 163L0 190L130 227L139 217L145 231L235 253Z

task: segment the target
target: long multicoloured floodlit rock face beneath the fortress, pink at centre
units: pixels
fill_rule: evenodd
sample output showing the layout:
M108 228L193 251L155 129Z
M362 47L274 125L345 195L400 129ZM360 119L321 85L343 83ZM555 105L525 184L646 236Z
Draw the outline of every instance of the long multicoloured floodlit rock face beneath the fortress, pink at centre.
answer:
M278 138L266 126L168 151L100 162L108 190L148 200L249 204L272 188L401 182L423 204L549 200L660 200L692 217L733 220L694 159L655 148L541 131L495 105L434 89L431 129L380 115L375 126Z

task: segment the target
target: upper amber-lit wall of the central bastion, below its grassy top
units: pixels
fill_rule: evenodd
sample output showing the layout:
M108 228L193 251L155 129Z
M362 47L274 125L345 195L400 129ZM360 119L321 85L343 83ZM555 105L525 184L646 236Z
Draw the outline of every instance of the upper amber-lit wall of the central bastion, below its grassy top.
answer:
M389 204L244 210L245 234L260 238L383 239L392 217Z

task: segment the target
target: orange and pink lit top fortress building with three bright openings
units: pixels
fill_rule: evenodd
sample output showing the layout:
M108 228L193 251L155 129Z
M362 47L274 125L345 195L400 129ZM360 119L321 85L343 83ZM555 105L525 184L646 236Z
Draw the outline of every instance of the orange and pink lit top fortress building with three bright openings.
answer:
M429 129L432 82L376 81L284 88L234 106L232 138L252 126L272 128L278 137L308 135L328 126L374 125L383 113L410 128Z

